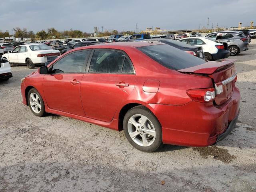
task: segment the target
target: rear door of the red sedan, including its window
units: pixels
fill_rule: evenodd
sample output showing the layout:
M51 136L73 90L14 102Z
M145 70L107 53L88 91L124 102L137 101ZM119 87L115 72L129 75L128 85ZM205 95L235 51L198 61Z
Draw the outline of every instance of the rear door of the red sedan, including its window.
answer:
M134 89L136 75L128 56L119 50L94 50L81 82L86 117L112 121Z

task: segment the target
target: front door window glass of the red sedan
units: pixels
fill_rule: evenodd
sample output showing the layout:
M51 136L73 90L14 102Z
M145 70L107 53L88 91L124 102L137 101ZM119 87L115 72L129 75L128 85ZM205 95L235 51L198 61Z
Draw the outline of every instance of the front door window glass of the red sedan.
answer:
M73 52L55 62L51 73L82 73L90 50Z

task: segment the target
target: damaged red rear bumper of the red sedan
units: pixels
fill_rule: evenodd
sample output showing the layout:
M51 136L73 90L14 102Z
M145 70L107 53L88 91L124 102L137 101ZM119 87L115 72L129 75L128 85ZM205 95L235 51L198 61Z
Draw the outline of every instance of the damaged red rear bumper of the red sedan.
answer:
M204 147L228 135L236 123L239 105L240 92L234 88L232 97L219 106L191 101L183 106L149 104L149 108L162 125L163 143Z

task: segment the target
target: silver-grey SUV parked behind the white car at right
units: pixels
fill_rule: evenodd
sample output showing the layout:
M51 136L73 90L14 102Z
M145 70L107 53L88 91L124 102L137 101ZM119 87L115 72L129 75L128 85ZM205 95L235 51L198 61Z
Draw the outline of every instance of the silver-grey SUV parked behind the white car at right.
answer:
M228 44L228 49L230 51L230 56L236 56L241 51L248 50L249 42L248 38L240 32L240 33L221 33L222 36L217 37L218 33L207 34L206 37L217 40L222 43L225 42Z

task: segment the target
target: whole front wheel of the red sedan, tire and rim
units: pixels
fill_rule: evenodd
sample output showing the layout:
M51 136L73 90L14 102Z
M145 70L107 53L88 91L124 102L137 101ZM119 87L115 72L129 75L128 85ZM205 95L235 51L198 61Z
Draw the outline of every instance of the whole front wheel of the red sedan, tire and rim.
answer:
M34 115L45 116L44 100L35 88L30 89L28 92L28 105Z

